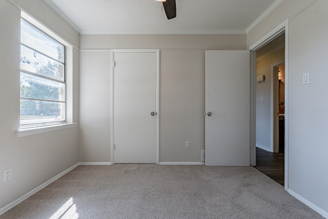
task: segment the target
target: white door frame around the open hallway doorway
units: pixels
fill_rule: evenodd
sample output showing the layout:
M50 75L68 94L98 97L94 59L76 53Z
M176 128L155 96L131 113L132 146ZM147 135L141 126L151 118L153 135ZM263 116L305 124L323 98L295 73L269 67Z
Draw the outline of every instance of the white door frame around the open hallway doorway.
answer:
M288 116L289 116L289 96L288 96L288 48L289 48L289 19L286 19L268 34L264 35L256 43L250 46L248 49L251 51L251 121L250 121L250 163L251 166L256 165L256 50L260 49L264 45L271 42L277 36L285 33L285 148L284 148L284 189L288 190L289 188L289 171L288 171Z

